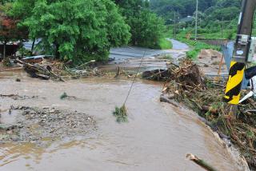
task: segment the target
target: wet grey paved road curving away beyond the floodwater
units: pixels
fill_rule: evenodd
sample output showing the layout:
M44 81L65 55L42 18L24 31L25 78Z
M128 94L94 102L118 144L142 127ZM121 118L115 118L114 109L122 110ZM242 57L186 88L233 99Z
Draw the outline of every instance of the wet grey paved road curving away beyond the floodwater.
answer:
M141 47L121 47L113 48L110 50L110 58L114 58L113 62L110 62L109 65L102 66L102 70L116 70L116 67L119 66L125 70L134 71L134 68L138 68L141 63L141 58L145 54L145 57L141 71L144 70L156 70L156 69L166 69L166 62L168 59L162 58L159 55L161 54L170 54L170 57L174 59L174 63L178 64L179 58L186 57L186 51L189 50L188 46L182 42L169 39L173 42L174 47L177 49L171 50L152 50Z

